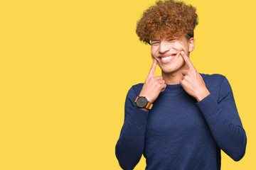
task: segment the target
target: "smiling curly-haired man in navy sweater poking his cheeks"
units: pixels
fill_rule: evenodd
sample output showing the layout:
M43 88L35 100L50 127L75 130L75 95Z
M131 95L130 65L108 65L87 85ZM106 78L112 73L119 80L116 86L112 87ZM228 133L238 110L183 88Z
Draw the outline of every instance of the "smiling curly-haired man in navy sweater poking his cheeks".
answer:
M156 2L137 23L153 64L144 84L127 94L116 145L122 169L134 169L144 154L146 169L217 170L220 149L235 161L245 154L247 137L228 79L200 74L189 60L197 18L196 8L170 0Z

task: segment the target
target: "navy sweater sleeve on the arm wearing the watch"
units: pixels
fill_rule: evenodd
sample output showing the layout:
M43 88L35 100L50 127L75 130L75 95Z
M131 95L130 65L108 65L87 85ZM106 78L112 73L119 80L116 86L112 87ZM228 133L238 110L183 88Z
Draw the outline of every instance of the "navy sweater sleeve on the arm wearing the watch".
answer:
M135 106L138 94L129 89L124 105L124 125L115 147L116 157L122 169L134 169L144 152L146 120L149 111Z

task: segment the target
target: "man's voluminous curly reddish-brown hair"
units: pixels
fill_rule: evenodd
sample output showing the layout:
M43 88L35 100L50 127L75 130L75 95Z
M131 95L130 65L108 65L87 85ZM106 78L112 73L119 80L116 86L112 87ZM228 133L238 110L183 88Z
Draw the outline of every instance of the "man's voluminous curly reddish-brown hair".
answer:
M186 5L183 1L156 1L137 21L136 33L140 41L150 45L150 40L156 35L160 38L181 35L191 38L196 25L198 15L195 7Z

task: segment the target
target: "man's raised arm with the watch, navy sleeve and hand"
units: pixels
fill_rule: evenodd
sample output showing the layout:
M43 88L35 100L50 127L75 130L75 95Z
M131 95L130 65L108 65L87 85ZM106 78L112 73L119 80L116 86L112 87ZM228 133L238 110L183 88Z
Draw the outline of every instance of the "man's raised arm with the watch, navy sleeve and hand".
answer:
M149 111L135 106L137 96L145 96L153 103L166 89L163 77L154 77L156 60L153 61L140 92L134 86L129 90L124 106L124 125L116 145L116 156L122 169L134 169L144 151L146 121ZM153 106L154 107L154 106Z

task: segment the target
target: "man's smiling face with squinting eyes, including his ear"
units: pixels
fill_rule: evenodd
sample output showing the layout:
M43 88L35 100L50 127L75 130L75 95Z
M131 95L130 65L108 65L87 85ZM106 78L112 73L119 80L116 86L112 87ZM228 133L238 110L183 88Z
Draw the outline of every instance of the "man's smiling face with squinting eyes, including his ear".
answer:
M185 61L181 56L181 51L193 51L195 40L188 40L185 35L178 38L154 38L151 40L151 57L157 60L157 64L164 73L180 72L186 67Z

